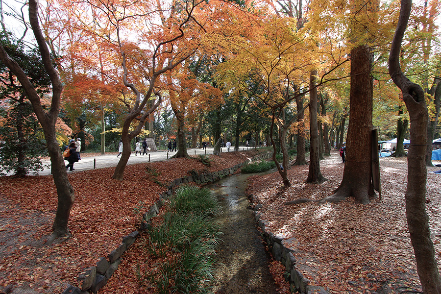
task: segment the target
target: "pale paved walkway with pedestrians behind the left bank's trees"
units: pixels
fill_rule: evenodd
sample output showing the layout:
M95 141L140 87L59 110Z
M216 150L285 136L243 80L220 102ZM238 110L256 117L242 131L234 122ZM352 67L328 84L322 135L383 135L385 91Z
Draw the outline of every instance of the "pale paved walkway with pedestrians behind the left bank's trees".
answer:
M247 147L240 147L240 150L244 150ZM222 152L226 152L226 148L221 148ZM251 149L251 147L248 147L248 149ZM233 150L233 148L230 148L230 152ZM213 154L213 148L207 148L207 150L203 150L202 148L192 148L187 149L187 152L189 155L195 155L195 154ZM167 158L172 157L174 154L176 154L176 151L168 153L167 157L167 151L155 151L155 152L149 152L149 155L138 155L135 156L135 151L132 152L132 154L129 157L129 160L127 164L136 164L141 162L148 162L150 161L161 161L161 160L167 160ZM98 155L98 156L83 156L81 157L81 160L78 162L75 162L73 164L73 168L75 169L73 172L80 172L80 171L86 171L86 170L92 170L94 168L100 169L100 168L108 168L108 167L116 167L119 158L117 158L117 154L106 154L106 155ZM44 160L44 164L48 164L49 168L45 168L42 172L39 172L39 175L48 175L50 174L50 160ZM68 164L68 162L65 160L65 163Z

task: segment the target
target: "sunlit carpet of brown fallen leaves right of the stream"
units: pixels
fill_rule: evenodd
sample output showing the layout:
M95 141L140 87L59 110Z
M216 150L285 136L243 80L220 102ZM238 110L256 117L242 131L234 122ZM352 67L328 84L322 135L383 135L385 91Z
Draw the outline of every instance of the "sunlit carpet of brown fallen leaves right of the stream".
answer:
M262 203L268 230L284 236L294 250L298 269L331 293L411 293L421 291L415 255L405 216L407 159L380 158L382 200L367 205L353 198L319 205L284 205L298 198L321 199L332 194L343 177L337 152L320 161L328 181L306 184L308 166L292 166L292 186L283 189L278 173L250 177L247 193ZM441 176L428 168L426 210L436 258L441 262Z

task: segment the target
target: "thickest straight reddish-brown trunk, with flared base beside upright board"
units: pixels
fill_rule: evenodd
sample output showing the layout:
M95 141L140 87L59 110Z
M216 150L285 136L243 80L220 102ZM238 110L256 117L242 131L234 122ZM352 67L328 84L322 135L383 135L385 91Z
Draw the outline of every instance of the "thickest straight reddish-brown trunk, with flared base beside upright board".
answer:
M374 196L371 182L372 130L372 53L368 46L351 50L350 115L346 135L346 161L343 180L334 195L325 199L339 201L353 196L360 203L368 203ZM344 121L343 121L344 122ZM342 123L342 129L343 129Z

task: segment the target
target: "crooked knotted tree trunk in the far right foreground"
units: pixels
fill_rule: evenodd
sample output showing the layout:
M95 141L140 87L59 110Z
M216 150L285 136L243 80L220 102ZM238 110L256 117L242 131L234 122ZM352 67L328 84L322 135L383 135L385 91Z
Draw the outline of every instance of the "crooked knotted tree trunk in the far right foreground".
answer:
M428 111L424 91L404 75L399 61L401 42L406 31L411 7L411 0L401 0L400 16L389 55L389 74L395 85L401 89L411 123L411 145L407 158L408 177L405 199L407 225L417 260L417 272L423 292L425 294L439 294L441 293L441 280L435 259L435 249L430 238L429 217L425 206Z

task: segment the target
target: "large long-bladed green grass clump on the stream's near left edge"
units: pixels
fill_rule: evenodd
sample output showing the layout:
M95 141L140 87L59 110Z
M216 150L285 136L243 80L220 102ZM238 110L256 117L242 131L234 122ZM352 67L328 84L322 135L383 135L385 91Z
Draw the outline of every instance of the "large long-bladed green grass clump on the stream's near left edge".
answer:
M148 230L145 248L159 261L158 270L148 274L138 270L140 284L148 280L157 293L209 293L221 235L213 217L220 213L209 190L179 187L169 198L163 221Z

